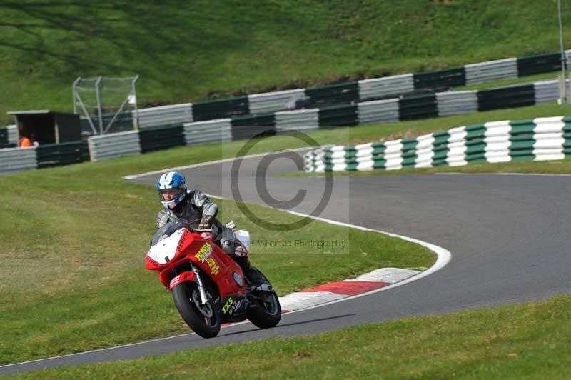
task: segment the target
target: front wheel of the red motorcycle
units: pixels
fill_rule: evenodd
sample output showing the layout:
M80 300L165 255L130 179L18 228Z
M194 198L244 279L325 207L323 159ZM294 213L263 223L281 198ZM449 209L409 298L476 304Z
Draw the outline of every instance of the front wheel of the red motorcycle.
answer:
M220 314L210 294L208 302L200 304L201 297L196 284L183 282L172 289L174 304L188 327L203 338L212 338L220 331Z

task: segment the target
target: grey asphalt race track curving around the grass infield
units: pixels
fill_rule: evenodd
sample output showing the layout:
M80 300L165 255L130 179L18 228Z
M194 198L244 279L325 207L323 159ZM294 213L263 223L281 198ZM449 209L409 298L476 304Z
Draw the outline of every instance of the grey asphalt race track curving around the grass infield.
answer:
M272 161L268 157L279 158ZM262 160L269 164L266 176L258 168ZM264 192L256 189L256 180L259 189L265 182L268 194L274 198L266 203L303 214L310 214L323 196L323 177L274 176L297 169L293 160L283 154L244 159L237 183L231 183L232 164L208 164L181 172L191 186L208 194L233 198L232 188L236 191L238 186L244 201L258 204L265 203L258 195ZM151 184L157 176L151 174L135 181ZM297 202L290 200L300 189L307 190L307 194L294 206ZM394 289L285 314L273 329L238 324L222 329L214 339L188 334L1 366L0 374L133 359L269 336L317 334L367 322L571 293L570 193L571 176L338 176L333 179L331 198L321 217L428 241L448 249L452 254L450 263L431 276ZM157 211L159 208L157 200Z

